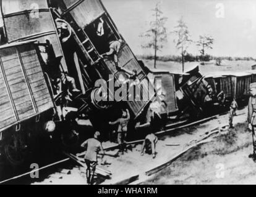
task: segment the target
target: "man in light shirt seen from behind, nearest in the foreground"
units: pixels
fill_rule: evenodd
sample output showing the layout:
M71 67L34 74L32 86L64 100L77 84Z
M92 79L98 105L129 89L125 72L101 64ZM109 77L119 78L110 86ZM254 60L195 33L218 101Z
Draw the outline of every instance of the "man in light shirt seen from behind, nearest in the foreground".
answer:
M86 176L87 176L87 183L89 185L93 184L93 177L94 177L95 169L97 166L98 153L101 153L103 156L105 154L102 144L98 140L99 137L100 137L100 132L96 131L93 138L86 140L81 145L82 148L87 147L87 151L85 154L85 163L87 165Z

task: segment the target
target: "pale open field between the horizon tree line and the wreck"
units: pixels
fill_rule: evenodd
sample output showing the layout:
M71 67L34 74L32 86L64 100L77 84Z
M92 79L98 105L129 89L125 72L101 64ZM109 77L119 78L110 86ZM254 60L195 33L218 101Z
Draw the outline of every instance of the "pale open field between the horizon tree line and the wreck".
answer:
M143 60L146 66L149 68L153 68L154 62L153 60ZM234 73L234 72L242 72L246 70L251 70L251 66L255 65L256 62L254 60L249 61L229 61L223 60L221 66L216 66L215 61L211 60L210 62L205 62L205 65L200 65L200 62L186 62L185 63L185 71L194 68L194 66L200 65L199 69L203 75L206 74L224 74L224 73ZM156 62L156 69L159 70L169 70L174 73L182 72L182 65L179 62Z

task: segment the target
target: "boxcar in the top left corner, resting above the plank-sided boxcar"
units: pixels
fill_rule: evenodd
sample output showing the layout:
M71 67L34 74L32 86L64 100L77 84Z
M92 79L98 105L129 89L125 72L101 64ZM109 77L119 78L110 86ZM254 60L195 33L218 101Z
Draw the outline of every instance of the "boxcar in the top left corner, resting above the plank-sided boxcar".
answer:
M36 39L45 44L49 41L53 47L53 55L64 56L46 0L2 0L1 9L8 43ZM67 71L64 59L61 59L61 64Z

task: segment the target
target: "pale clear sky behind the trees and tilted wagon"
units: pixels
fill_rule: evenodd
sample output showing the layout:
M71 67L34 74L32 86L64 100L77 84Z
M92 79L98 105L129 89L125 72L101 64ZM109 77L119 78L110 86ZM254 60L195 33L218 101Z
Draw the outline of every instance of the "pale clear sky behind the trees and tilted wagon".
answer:
M213 49L207 54L231 57L256 57L256 1L255 0L102 0L119 32L134 54L153 54L153 50L142 49L143 39L139 34L148 30L153 14L151 9L161 4L164 17L168 17L168 42L159 55L177 55L174 34L170 32L183 18L191 39L198 41L199 35L211 35ZM199 54L192 43L187 49Z

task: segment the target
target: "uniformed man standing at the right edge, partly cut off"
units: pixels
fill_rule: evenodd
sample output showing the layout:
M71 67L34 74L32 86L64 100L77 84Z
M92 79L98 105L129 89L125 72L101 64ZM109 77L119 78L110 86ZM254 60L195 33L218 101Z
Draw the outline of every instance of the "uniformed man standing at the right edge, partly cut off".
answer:
M255 135L255 127L256 127L256 82L250 84L250 98L248 103L248 127L250 131L252 131L252 145L253 145L253 153L249 155L250 158L254 160L256 163L256 135Z

